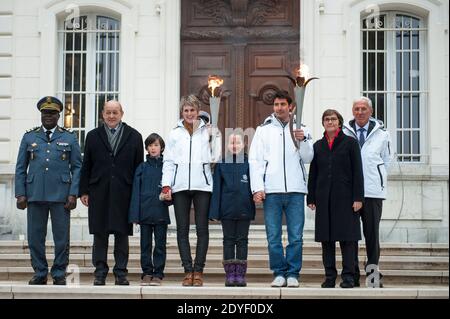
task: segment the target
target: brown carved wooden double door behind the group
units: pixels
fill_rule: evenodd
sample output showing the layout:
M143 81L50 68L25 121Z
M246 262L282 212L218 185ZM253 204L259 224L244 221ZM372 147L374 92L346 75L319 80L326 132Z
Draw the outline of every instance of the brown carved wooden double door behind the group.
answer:
M219 128L256 128L273 94L293 96L299 67L300 0L181 0L181 95L209 110L208 76L224 79ZM263 224L259 206L256 224ZM192 214L193 215L193 214ZM193 220L191 221L193 222Z

